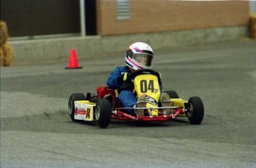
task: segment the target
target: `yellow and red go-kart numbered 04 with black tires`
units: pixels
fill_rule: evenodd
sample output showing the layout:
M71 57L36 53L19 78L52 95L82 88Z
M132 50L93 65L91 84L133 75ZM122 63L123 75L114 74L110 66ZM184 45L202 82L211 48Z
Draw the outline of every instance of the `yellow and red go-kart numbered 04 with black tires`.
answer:
M193 96L188 101L179 98L174 90L168 90L170 100L165 101L169 106L161 107L160 75L151 69L135 70L131 74L134 78L134 94L146 96L146 107L122 107L117 100L118 93L108 87L98 87L96 95L87 93L73 93L68 101L68 112L72 121L94 121L99 127L108 127L111 120L124 121L169 121L172 118L187 117L191 124L200 124L203 121L204 107L200 97ZM130 82L131 84L131 82ZM126 85L126 86L125 86ZM128 83L122 84L122 88ZM145 104L145 102L144 102ZM167 114L166 110L171 109ZM126 111L134 111L134 115ZM140 116L137 110L144 110ZM170 110L168 110L170 111Z

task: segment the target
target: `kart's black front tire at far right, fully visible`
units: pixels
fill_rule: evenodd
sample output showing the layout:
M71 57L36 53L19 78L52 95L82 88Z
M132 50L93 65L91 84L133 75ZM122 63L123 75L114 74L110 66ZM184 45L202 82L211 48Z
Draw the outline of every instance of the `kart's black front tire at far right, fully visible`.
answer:
M191 124L201 124L203 121L204 107L200 97L193 96L189 98L186 114Z

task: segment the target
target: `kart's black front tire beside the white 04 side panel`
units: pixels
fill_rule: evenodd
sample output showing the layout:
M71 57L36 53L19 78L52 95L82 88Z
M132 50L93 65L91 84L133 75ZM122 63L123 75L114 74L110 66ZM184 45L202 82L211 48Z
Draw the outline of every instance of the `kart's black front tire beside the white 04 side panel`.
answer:
M99 127L108 127L111 123L111 104L105 98L99 99L96 102L95 118Z

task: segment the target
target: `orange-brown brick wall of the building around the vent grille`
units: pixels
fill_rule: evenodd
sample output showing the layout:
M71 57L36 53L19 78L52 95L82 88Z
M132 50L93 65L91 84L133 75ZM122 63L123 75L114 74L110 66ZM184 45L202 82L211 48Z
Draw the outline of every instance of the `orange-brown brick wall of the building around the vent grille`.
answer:
M249 1L131 0L128 21L117 21L116 1L97 0L101 36L243 26L249 23Z

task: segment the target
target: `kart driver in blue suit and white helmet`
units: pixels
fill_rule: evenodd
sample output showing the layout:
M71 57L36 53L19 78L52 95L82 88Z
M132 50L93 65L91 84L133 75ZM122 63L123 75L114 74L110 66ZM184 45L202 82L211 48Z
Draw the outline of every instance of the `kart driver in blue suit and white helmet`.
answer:
M116 69L110 74L108 77L108 87L113 90L117 90L119 95L117 100L122 107L145 107L146 106L146 97L145 95L141 95L140 98L136 98L133 93L134 84L132 83L132 78L130 73L134 70L139 70L141 68L151 69L152 64L151 61L154 57L154 52L152 48L145 43L136 42L131 44L128 47L125 55L125 67L116 67ZM123 83L126 84L126 87L123 87ZM159 81L160 84L160 101L163 107L169 106L168 103L164 103L163 101L169 101L170 97L167 93L163 93L162 91L162 82ZM144 116L144 110L137 110L138 115ZM127 110L127 113L130 115L135 115L134 110ZM169 115L171 110L166 109L166 113Z

